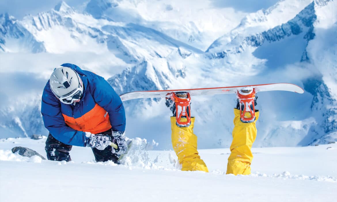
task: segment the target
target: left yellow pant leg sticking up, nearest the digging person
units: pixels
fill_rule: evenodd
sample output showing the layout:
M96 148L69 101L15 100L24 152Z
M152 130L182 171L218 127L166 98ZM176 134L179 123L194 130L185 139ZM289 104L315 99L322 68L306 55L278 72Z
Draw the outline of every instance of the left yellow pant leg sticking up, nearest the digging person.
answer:
M190 126L178 127L176 117L171 117L172 146L178 156L182 171L208 172L205 162L200 159L197 151L197 136L193 133L194 119L194 117L191 118ZM182 118L182 121L186 119Z

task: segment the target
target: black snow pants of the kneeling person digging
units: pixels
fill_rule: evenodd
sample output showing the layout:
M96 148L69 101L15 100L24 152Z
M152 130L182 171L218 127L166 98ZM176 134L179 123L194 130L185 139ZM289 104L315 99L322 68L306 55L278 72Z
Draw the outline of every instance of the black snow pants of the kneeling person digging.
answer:
M109 135L113 140L111 129L105 132L101 132L100 134ZM71 148L71 145L61 143L60 141L56 140L50 133L48 135L47 141L45 141L45 151L47 152L48 160L71 161L69 155L69 151L71 150ZM97 162L112 160L113 162L117 163L118 157L112 153L111 146L106 147L104 150L92 148L92 152L94 153L95 160Z

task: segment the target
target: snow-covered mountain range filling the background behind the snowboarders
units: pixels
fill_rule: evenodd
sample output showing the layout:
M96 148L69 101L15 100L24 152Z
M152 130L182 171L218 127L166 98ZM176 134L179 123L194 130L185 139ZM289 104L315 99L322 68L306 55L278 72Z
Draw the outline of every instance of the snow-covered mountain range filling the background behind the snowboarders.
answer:
M47 132L39 112L42 80L48 80L54 66L72 62L105 76L119 94L295 83L305 94L258 95L261 117L254 146L337 141L337 2L282 0L250 14L210 5L91 0L83 10L60 2L23 20L0 15L1 74L28 72L38 83L20 96L1 89L7 98L2 100L0 137ZM13 58L30 68L9 62ZM41 58L47 58L45 67L40 67ZM201 148L229 146L235 100L228 95L192 98ZM129 136L153 138L159 147L170 148L170 112L162 99L128 101L125 107Z

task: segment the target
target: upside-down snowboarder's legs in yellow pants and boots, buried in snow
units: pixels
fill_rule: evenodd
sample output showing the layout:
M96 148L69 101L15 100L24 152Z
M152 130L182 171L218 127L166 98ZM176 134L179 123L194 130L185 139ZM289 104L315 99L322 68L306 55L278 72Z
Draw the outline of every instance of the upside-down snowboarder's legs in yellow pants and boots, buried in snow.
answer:
M171 138L173 149L182 166L181 170L208 172L205 162L200 158L197 151L197 136L193 133L195 118L191 117L188 124L181 124L181 122L186 123L189 119L188 117L190 117L189 101L185 109L184 107L179 107L180 112L176 111L179 104L176 104L177 102L174 100L179 99L180 103L183 103L183 99L189 99L188 93L176 92L174 96L176 96L176 99L171 99L173 98L172 96L166 97L165 104L173 112L171 117ZM237 92L237 96L237 106L234 108L233 141L230 147L231 154L228 157L226 174L249 175L253 158L251 147L257 133L255 122L259 116L258 110L255 110L257 96L255 96L253 88L243 88ZM185 110L187 116L181 117L178 123L176 116L181 116L182 110Z

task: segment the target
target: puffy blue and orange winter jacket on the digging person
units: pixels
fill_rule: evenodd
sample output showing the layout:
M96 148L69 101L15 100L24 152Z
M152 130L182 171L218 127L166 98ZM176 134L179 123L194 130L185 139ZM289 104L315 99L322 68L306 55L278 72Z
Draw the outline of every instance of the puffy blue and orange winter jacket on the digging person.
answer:
M41 113L44 126L58 141L85 146L85 132L99 134L112 128L125 130L125 110L120 97L108 82L73 64L63 64L77 72L83 81L80 102L64 104L53 94L49 81L42 94Z

